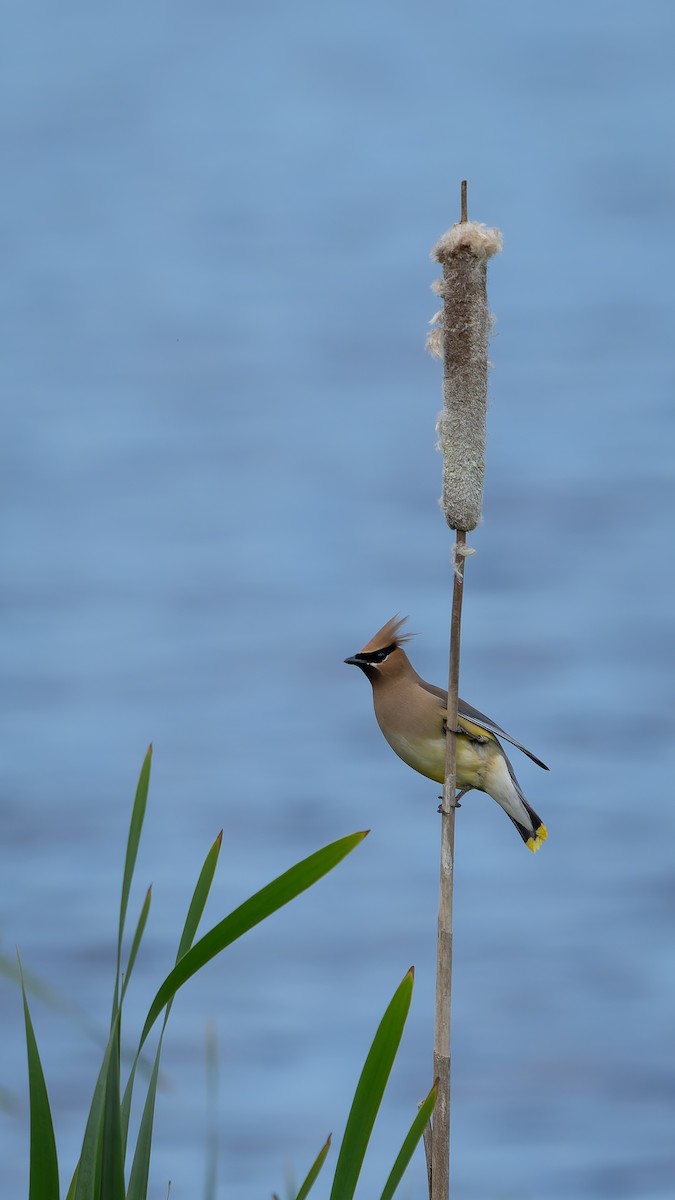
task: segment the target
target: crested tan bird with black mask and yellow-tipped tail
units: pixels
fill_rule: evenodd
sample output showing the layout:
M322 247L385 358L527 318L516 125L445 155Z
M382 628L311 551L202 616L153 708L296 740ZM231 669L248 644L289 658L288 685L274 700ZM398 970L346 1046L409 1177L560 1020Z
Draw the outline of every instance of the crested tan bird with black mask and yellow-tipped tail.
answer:
M434 779L446 775L448 694L426 683L410 661L404 643L413 634L401 634L407 617L392 617L358 654L345 659L360 667L372 685L375 716L387 742L408 767ZM513 821L527 850L539 850L548 836L542 818L522 794L515 772L500 738L510 742L543 770L545 763L506 733L484 713L460 700L456 732L456 802L472 790L486 792Z

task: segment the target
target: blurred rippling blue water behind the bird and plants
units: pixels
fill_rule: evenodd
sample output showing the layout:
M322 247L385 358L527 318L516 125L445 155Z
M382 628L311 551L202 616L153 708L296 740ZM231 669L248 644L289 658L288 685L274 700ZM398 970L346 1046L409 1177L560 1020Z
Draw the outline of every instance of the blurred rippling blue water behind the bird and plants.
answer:
M519 758L536 858L485 797L458 818L456 1194L671 1198L675 7L23 0L4 25L4 953L103 1031L150 739L130 1034L221 827L205 925L371 828L177 1001L153 1194L201 1194L209 1016L219 1195L253 1200L339 1139L414 962L378 1194L430 1084L437 787L342 659L410 612L447 679L424 337L466 176L504 253L461 691L551 773ZM0 1020L18 1198L8 979ZM100 1044L34 1020L70 1178Z

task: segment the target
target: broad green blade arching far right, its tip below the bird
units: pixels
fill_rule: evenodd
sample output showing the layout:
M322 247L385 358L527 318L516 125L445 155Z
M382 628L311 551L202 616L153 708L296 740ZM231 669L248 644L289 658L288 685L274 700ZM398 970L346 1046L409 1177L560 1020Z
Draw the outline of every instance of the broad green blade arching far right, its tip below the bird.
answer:
M333 870L338 863L363 841L365 835L365 833L350 834L347 838L340 838L322 850L315 851L309 858L297 863L288 871L285 871L283 875L277 876L276 880L268 883L267 887L256 892L255 895L245 900L234 912L231 912L228 917L225 917L217 925L214 925L208 934L204 934L184 954L173 971L169 971L162 983L150 1004L138 1049L141 1050L165 1004L168 1004L173 1000L179 988L187 979L191 979L197 971L205 966L207 962L210 962L227 946L237 941L238 937L241 937L243 934L258 925L259 922L270 917L273 912L276 912L277 908L288 904L289 900L293 900L301 892L311 887L312 883L322 878L323 875Z

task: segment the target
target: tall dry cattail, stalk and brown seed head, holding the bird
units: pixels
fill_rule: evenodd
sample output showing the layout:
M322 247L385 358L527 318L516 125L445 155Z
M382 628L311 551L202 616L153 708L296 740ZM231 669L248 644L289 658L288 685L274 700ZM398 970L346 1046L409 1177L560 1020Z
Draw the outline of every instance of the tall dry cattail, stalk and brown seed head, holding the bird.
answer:
M461 220L434 247L443 268L435 290L442 313L429 338L443 356L443 412L438 418L438 449L443 452L441 506L453 547L453 610L448 671L446 779L441 829L441 881L436 947L436 1019L434 1078L440 1080L431 1138L425 1139L429 1195L448 1200L450 1169L450 998L453 978L453 882L455 859L456 728L466 534L480 520L485 473L485 410L488 402L488 259L501 250L501 234L467 220L466 181L461 185Z

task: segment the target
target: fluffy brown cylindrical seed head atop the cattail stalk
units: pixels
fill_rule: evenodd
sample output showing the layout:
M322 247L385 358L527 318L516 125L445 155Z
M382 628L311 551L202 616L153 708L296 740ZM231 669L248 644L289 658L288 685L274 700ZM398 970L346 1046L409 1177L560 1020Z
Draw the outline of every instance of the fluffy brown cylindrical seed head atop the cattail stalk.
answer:
M431 251L443 278L434 284L443 307L426 338L443 359L443 412L436 426L443 454L441 508L450 529L474 529L483 508L488 406L488 259L502 248L498 229L474 221L453 226Z

